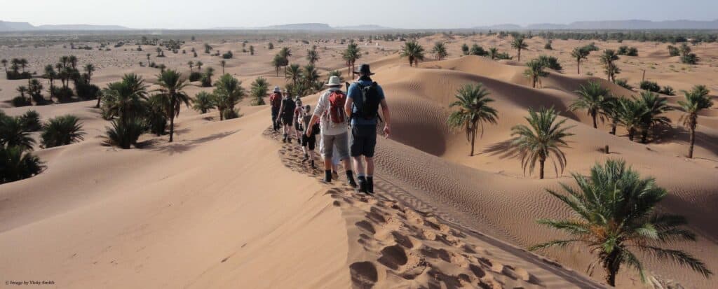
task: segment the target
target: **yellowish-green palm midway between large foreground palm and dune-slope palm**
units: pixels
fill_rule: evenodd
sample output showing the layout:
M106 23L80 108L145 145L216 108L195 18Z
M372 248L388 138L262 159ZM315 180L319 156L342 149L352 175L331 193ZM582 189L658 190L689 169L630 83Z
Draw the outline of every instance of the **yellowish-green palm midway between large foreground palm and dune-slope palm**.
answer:
M567 132L573 126L561 127L566 122L566 118L556 122L557 117L558 113L554 108L541 108L538 112L529 108L528 117L525 119L531 126L515 125L511 128L511 136L514 138L511 139L510 145L518 151L518 156L521 156L521 168L524 174L526 169L529 174L533 173L538 161L538 177L544 179L544 163L548 158L554 162L556 176L559 175L556 163L563 173L566 156L561 148L568 147L564 138L574 134Z

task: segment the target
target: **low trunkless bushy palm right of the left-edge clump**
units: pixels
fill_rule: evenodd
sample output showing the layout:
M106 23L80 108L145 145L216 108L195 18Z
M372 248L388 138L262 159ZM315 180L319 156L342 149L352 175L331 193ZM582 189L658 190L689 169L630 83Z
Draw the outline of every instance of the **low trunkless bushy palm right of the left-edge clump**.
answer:
M84 135L80 118L75 115L61 115L57 118L50 118L45 125L42 125L41 146L43 148L65 146L82 141L85 139Z

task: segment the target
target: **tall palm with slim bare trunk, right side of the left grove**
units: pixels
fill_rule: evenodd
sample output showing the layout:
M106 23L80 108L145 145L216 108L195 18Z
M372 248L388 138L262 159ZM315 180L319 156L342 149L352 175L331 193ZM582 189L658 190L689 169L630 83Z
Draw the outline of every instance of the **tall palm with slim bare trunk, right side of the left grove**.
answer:
M169 142L172 143L174 135L174 118L180 116L180 108L185 103L187 108L190 107L190 96L183 89L187 87L187 80L182 78L182 73L177 70L165 70L157 75L157 85L159 85L159 95L164 98L165 113L169 116Z

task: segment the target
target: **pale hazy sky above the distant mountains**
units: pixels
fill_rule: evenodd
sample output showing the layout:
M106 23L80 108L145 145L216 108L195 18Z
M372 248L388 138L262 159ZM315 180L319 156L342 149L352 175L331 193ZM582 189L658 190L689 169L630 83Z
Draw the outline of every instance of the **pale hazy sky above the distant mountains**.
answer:
M289 23L396 28L585 20L715 20L718 0L0 0L0 20L202 29Z

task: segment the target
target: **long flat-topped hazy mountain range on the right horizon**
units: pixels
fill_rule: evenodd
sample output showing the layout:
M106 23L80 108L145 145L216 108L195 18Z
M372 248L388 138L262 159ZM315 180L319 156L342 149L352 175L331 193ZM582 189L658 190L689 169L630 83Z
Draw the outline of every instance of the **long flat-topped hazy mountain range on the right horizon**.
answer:
M645 30L645 29L718 29L718 20L694 21L694 20L615 20L615 21L582 21L570 24L529 24L519 26L516 24L499 24L491 26L472 27L473 29L493 30L585 30L585 29L617 29L617 30Z

